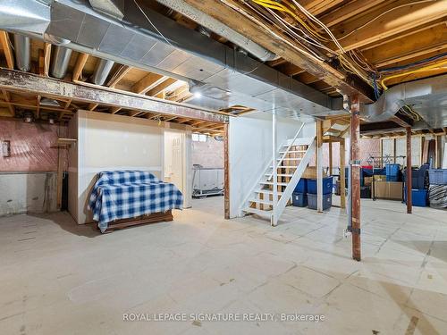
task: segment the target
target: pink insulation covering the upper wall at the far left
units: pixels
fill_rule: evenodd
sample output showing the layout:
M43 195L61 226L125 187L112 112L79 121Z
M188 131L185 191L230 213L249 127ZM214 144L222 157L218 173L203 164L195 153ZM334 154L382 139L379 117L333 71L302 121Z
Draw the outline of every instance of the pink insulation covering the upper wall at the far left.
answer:
M0 172L57 171L55 142L66 133L65 126L0 118L0 141L11 141L11 156L0 155ZM61 150L64 156L65 151Z

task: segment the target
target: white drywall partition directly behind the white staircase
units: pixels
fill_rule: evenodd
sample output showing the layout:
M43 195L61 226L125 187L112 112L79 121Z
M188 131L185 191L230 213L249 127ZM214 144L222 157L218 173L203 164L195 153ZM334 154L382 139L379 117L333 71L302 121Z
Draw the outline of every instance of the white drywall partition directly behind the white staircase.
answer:
M278 117L278 147L286 139L293 138L301 124L299 121ZM308 131L311 131L311 128ZM228 139L230 217L233 218L240 216L242 202L256 185L261 173L266 169L267 163L272 160L272 114L252 113L247 116L231 118Z

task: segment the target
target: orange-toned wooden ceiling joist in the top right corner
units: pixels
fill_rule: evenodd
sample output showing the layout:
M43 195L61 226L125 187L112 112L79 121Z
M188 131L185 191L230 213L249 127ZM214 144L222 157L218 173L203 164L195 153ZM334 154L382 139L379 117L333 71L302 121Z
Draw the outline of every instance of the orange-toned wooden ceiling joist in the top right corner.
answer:
M357 20L342 22L333 29L335 37L349 51L441 19L447 13L446 1L413 3L411 0L393 1L367 15L359 15Z

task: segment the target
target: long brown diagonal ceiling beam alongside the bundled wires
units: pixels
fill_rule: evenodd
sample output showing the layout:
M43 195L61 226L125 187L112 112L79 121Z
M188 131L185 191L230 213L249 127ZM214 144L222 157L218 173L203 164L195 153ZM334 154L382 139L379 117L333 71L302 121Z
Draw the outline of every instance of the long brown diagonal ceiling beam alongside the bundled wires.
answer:
M362 80L350 78L342 71L335 69L331 64L321 62L316 58L303 53L295 46L295 43L283 38L283 32L274 29L265 22L256 19L246 9L242 9L240 2L236 0L184 0L186 3L207 13L217 21L223 22L241 35L256 40L257 44L267 50L280 55L283 59L297 65L304 71L308 71L316 78L324 80L328 85L338 88L341 94L359 94L362 102L372 103L374 93L371 88L365 86ZM243 24L241 24L243 22Z

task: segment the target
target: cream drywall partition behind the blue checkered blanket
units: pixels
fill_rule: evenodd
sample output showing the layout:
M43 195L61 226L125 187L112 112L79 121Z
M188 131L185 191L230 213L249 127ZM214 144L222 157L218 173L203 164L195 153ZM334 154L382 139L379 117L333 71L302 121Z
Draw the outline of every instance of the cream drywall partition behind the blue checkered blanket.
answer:
M184 125L89 111L78 111L77 122L78 208L72 216L80 224L92 222L87 205L97 172L141 170L163 179L164 129L190 133Z

